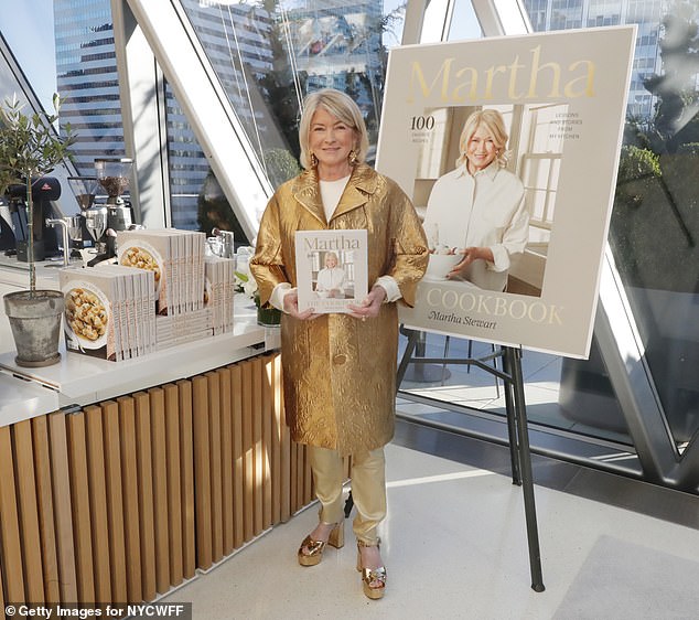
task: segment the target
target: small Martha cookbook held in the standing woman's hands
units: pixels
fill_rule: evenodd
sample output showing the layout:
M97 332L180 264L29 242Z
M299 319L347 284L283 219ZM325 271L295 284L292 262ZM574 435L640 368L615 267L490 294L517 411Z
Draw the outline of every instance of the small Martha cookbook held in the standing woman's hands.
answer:
M366 231L295 233L299 310L347 312L368 291Z

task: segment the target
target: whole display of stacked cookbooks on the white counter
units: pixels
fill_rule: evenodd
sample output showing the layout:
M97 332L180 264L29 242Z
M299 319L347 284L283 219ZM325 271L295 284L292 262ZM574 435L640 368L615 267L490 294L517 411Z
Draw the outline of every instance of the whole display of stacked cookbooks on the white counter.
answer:
M203 233L120 231L117 264L60 270L68 351L130 360L233 331L235 260Z

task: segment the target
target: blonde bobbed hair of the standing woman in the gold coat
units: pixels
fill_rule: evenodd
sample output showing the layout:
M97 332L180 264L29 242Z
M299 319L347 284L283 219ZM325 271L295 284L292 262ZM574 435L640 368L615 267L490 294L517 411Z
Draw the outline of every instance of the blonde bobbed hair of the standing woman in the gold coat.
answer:
M355 104L348 95L334 88L323 88L311 93L303 100L303 114L299 124L299 145L301 147L301 165L307 170L313 168L311 164L311 149L309 147L309 132L311 130L311 120L315 110L325 108L326 111L338 118L347 127L354 130L356 161L354 163L363 163L369 149L369 137L364 125L364 118L357 104Z

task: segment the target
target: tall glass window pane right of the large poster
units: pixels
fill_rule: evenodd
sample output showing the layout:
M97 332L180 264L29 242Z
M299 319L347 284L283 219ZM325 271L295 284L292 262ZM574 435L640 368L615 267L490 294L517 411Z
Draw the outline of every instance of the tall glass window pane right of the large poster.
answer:
M541 10L539 2L525 6ZM699 172L698 73L688 34L697 14L689 4L600 0L585 18L638 26L610 244L668 425L682 445L699 428L699 220L691 182Z

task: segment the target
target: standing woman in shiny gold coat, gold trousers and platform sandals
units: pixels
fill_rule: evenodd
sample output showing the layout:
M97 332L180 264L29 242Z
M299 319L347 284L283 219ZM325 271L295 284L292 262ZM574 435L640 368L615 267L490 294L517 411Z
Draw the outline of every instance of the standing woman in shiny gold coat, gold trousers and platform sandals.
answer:
M368 138L345 94L309 95L299 128L299 177L269 201L250 269L260 302L283 310L281 350L287 424L308 446L320 522L301 543L302 566L316 565L326 544L344 544L343 457L352 456L357 509L357 569L367 597L380 598L386 569L377 526L386 515L384 446L394 434L398 314L412 304L428 260L418 216L400 188L364 163ZM362 303L347 313L299 312L294 233L368 231L368 277Z

